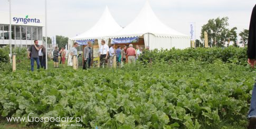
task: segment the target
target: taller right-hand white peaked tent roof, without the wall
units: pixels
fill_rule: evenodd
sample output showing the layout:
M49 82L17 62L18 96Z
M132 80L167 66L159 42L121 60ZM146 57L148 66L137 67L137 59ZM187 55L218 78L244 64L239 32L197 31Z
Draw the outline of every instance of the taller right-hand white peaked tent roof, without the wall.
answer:
M146 2L139 15L124 29L112 34L110 38L136 37L144 34L154 34L160 37L189 38L178 31L171 29L161 22L152 11L149 2Z

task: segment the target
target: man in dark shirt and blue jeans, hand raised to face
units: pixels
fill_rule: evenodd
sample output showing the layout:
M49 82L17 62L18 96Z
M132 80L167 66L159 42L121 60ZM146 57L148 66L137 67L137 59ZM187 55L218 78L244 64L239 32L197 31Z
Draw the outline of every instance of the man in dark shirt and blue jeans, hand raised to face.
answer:
M38 51L40 46L38 45L38 40L34 41L34 44L31 45L28 49L28 59L30 59L31 71L34 71L34 62L36 61L37 69L40 69L40 61Z

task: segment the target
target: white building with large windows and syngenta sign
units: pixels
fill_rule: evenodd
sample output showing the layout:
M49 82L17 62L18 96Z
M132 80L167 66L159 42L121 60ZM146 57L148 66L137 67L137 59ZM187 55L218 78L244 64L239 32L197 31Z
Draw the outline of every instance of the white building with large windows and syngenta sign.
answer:
M11 37L9 37L9 12L0 12L0 47L9 45L28 47L38 40L43 44L43 16L32 14L13 14L11 17Z

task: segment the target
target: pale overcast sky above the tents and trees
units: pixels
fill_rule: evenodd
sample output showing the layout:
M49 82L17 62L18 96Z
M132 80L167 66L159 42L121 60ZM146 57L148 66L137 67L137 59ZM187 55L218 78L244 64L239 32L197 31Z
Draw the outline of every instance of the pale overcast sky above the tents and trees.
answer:
M9 11L0 0L0 11ZM148 0L157 17L169 27L189 35L189 22L196 22L196 38L209 19L229 17L229 28L248 29L255 0ZM98 21L105 6L120 26L127 26L146 0L48 0L48 36L74 37ZM45 14L44 0L12 0L12 12ZM9 18L9 17L8 17ZM2 17L1 17L2 19ZM0 19L0 20L1 20ZM99 30L100 31L100 30Z

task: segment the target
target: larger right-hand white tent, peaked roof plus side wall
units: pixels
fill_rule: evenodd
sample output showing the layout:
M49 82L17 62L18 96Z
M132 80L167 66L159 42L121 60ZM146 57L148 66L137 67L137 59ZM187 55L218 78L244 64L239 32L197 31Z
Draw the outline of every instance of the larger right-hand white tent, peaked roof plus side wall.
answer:
M146 2L139 15L124 29L115 32L109 38L144 36L144 42L150 49L184 49L190 47L189 36L171 29L161 22Z

